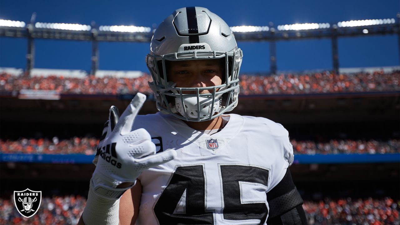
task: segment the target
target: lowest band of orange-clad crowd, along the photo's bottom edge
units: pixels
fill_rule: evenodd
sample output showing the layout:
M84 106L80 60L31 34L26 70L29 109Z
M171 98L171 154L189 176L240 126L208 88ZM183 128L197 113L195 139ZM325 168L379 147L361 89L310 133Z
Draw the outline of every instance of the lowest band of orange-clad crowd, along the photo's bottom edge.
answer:
M308 224L372 224L399 225L400 202L384 199L324 199L304 201ZM0 199L0 224L76 224L86 205L86 199L79 195L44 197L38 212L30 218L22 217L14 199Z

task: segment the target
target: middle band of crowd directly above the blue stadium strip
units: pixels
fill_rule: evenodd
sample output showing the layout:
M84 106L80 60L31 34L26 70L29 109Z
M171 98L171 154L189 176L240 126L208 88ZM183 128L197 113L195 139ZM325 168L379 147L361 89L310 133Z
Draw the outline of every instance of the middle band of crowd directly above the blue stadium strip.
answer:
M52 139L27 139L19 140L0 139L0 153L24 154L85 154L96 153L98 139L93 137L73 137L60 140ZM292 139L294 153L297 155L315 154L386 154L400 153L400 140L389 141L362 141L362 140L336 140L321 143L315 141L296 141Z

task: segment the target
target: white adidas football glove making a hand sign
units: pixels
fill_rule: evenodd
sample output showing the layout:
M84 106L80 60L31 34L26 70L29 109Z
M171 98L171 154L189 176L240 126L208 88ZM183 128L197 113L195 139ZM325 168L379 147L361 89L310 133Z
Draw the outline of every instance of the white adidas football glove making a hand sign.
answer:
M106 137L102 140L102 145L99 143L101 149L91 181L95 193L102 197L120 198L133 185L122 189L116 188L118 185L124 182L135 183L142 171L176 157L176 152L172 149L156 154L156 146L145 129L131 131L134 119L145 100L146 95L136 94L115 127L111 122L115 120L112 118L115 107L110 108Z

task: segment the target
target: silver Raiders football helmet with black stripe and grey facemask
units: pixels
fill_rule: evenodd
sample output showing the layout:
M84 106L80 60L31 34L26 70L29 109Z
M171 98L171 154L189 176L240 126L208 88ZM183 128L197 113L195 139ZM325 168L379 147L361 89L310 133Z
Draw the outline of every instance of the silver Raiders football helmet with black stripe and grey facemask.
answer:
M232 110L238 104L242 57L232 31L219 16L202 7L175 10L154 32L150 53L146 56L153 78L149 85L154 91L157 109L186 121L207 121ZM221 85L176 87L168 81L168 60L216 58L225 60ZM202 90L209 93L200 94Z

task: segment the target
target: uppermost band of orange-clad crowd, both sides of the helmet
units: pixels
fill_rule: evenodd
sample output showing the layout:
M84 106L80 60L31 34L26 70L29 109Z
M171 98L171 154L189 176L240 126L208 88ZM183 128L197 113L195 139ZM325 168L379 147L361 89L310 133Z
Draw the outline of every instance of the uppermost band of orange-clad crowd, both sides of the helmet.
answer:
M339 74L318 72L313 74L279 74L262 76L242 74L240 94L308 94L335 92L379 92L398 91L400 71L384 73ZM152 94L147 85L152 78L144 74L138 78L117 78L94 75L86 78L65 78L63 76L19 77L0 73L0 93L28 90L56 90L61 94Z

